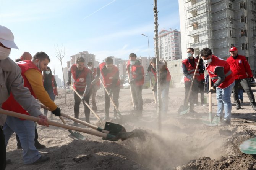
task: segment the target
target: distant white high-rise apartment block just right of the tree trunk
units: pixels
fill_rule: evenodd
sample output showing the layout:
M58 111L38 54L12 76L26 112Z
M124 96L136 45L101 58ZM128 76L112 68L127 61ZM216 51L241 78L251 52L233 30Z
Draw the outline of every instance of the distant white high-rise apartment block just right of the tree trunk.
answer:
M158 33L159 58L166 61L181 59L180 32L170 29ZM155 47L156 50L156 47Z

